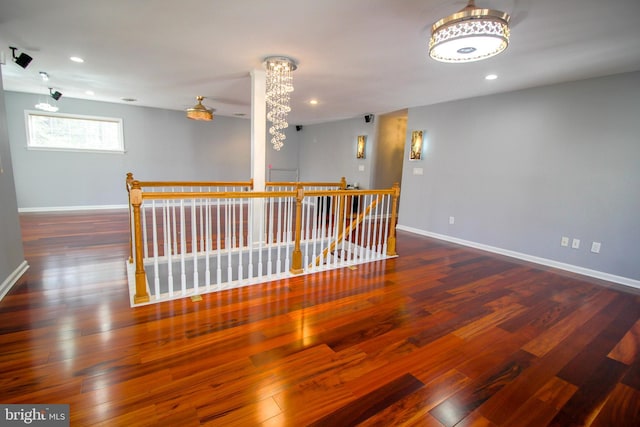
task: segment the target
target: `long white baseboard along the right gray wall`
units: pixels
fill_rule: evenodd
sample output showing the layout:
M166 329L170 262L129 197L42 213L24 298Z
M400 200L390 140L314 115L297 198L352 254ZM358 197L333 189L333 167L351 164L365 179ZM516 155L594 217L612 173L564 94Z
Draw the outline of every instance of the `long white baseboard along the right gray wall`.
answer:
M594 277L596 279L606 280L608 282L619 283L621 285L629 286L631 288L640 289L640 280L631 279L628 277L616 276L615 274L609 274L602 271L591 270L589 268L580 267L577 265L566 264L559 261L554 261L548 258L541 258L533 255L524 254L521 252L515 252L508 249L502 249L495 246L489 246L482 243L476 243L469 240L459 239L457 237L447 236L445 234L432 233L430 231L420 230L406 225L400 225L396 227L398 230L407 231L413 234L419 234L421 236L433 237L434 239L444 240L451 243L457 243L459 245L468 246L475 249L480 249L487 252L492 252L499 255L505 255L511 258L517 258L523 261L529 261L535 264L541 264L547 267L553 267L560 270L570 271L572 273L581 274L583 276Z

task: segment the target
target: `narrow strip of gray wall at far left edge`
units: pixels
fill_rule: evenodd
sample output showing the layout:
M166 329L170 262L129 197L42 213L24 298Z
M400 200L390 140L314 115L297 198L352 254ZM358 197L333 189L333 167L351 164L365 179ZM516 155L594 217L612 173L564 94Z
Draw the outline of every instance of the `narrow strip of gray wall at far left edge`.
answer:
M0 70L0 295L12 285L19 269L26 266L22 247L18 204L7 132L2 70Z

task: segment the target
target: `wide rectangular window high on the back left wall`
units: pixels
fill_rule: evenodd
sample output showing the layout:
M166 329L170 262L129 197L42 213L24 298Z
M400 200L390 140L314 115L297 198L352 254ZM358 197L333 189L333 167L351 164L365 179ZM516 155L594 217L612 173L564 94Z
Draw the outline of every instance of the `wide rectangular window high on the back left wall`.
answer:
M122 119L25 111L27 148L124 153Z

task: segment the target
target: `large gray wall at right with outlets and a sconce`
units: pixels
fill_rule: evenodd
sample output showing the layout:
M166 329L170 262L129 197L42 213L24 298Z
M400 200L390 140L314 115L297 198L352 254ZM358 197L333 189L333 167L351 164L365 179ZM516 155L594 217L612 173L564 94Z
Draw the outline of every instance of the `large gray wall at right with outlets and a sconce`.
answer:
M640 72L410 108L417 129L401 227L640 279Z

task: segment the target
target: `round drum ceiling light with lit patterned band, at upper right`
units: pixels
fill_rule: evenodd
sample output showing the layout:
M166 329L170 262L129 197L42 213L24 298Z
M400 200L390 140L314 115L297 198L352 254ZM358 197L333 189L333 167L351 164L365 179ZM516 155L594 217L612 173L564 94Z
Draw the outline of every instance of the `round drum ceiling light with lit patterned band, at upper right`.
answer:
M475 1L431 27L429 56L441 62L487 59L509 45L509 19L505 12L476 8Z

